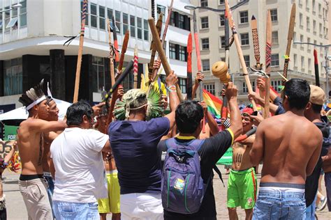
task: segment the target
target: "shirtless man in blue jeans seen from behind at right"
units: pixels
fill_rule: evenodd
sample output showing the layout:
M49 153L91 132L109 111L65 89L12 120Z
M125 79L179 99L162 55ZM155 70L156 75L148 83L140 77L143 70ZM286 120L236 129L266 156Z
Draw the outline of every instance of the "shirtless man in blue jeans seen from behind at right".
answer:
M250 152L251 163L263 160L253 219L304 219L304 182L321 153L322 133L304 109L310 88L306 80L290 79L283 93L286 113L263 120Z

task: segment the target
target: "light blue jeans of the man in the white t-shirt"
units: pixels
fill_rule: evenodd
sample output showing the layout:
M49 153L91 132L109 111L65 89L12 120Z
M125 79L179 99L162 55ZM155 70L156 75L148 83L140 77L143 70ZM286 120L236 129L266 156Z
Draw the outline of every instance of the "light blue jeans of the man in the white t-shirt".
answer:
M66 203L53 201L56 219L91 219L99 220L98 203Z

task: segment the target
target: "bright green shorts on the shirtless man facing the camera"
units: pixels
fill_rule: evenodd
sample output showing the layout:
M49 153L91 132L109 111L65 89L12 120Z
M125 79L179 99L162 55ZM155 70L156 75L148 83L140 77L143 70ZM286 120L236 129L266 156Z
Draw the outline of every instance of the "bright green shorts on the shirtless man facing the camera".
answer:
M242 207L249 210L254 207L257 189L254 168L244 171L230 171L228 180L228 207Z

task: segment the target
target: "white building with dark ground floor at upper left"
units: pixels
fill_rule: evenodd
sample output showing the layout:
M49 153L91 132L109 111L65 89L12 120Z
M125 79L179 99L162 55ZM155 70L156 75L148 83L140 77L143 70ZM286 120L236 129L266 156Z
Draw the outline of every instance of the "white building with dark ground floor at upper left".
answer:
M12 8L16 3L22 6ZM189 1L181 1L174 7L174 15L185 21L190 11L185 10L182 4L187 3ZM168 14L168 6L170 0L156 0L155 12L159 10ZM12 10L7 10L10 8ZM50 81L54 97L72 102L79 38L68 46L64 46L64 42L68 40L66 36L80 33L82 0L0 0L0 11L3 10L6 12L0 13L0 110L5 112L20 107L17 101L20 94L43 78ZM124 61L133 59L133 50L138 45L139 73L145 72L152 40L147 22L151 11L151 0L88 1L79 99L101 101L102 89L110 88L106 19L111 19L112 15L119 29L119 50L122 49L126 29L130 31ZM183 39L189 34L186 30L189 22L179 26L175 17L172 20L166 38L166 53L185 93L186 53L183 58L182 51L186 48L186 40ZM169 53L172 47L175 47L174 56ZM124 88L132 87L131 74L124 80Z

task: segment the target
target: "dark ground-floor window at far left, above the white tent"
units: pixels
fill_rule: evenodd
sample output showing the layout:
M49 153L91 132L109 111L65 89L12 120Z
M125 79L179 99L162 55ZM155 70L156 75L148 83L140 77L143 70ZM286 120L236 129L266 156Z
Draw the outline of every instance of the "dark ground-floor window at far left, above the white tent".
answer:
M17 95L23 91L22 58L4 61L3 95Z

